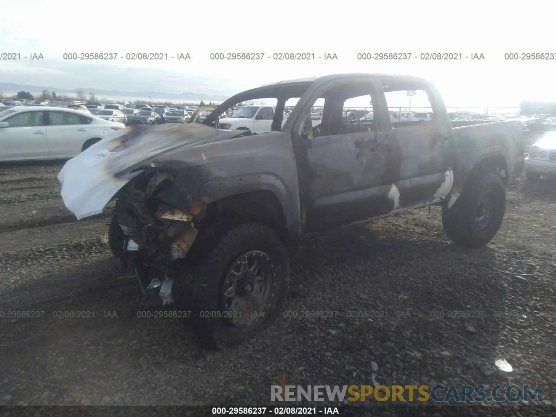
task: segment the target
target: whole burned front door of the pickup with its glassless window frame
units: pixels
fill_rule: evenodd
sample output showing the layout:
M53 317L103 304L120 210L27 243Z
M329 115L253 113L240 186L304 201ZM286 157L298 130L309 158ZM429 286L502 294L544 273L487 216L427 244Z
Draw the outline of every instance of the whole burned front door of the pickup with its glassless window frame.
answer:
M381 104L379 89L374 77L331 82L312 93L304 115L294 125L292 140L306 232L369 219L395 206L391 187L384 187L381 180L390 155L370 151L384 142L383 123L378 118L364 124L359 117L351 120L345 116L346 108L368 106L369 100L376 115ZM311 134L310 108L322 98L322 122ZM354 101L363 104L350 104Z

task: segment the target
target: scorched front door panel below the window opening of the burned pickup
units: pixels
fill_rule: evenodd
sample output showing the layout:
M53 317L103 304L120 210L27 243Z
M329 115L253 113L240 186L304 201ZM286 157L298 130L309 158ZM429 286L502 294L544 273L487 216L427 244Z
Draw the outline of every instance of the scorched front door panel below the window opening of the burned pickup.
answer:
M306 231L330 229L393 210L395 196L382 178L390 164L380 151L383 133L359 132L316 137L307 149L313 173ZM371 151L374 150L374 151ZM399 167L399 164L398 164Z

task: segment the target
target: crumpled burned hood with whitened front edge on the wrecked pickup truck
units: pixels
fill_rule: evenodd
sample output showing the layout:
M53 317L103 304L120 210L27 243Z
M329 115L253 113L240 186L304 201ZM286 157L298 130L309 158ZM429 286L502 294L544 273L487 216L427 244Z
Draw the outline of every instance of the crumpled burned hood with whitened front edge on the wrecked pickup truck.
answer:
M112 197L157 158L205 143L226 140L241 131L186 125L128 126L67 161L58 174L62 198L77 219L100 214ZM183 161L187 163L187 161Z

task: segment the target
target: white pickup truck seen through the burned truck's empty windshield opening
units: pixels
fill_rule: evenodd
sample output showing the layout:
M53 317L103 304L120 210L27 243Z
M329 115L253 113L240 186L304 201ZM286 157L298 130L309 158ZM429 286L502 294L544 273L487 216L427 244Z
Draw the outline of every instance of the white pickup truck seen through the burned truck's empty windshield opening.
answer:
M220 127L225 130L245 130L251 133L272 131L274 106L243 106L230 117L219 120ZM286 113L282 117L282 126L286 123Z

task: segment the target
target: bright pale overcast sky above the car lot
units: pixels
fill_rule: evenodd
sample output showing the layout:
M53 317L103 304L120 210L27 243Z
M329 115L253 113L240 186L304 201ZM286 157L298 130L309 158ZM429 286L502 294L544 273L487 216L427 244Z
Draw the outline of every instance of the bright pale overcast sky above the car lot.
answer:
M137 2L138 3L138 2ZM0 82L75 90L196 92L232 95L266 83L345 72L414 75L435 83L450 107L517 107L556 101L556 47L549 1L466 2L172 2L150 9L96 0L0 0L0 54L41 53L44 60L0 60ZM419 4L419 6L416 6ZM158 12L158 11L161 12ZM539 11L546 11L540 13ZM355 12L354 12L355 11ZM530 13L529 13L529 12ZM533 18L534 17L534 18ZM68 61L64 53L111 52L114 61ZM127 53L167 53L132 61ZM216 61L211 53L265 53L259 61ZM276 61L305 52L337 60ZM358 53L411 53L409 60L360 60ZM457 61L421 53L461 53ZM505 53L553 53L507 60ZM191 59L170 58L188 53ZM465 58L483 54L484 60ZM413 106L420 105L414 97Z

